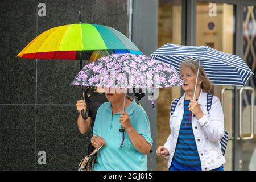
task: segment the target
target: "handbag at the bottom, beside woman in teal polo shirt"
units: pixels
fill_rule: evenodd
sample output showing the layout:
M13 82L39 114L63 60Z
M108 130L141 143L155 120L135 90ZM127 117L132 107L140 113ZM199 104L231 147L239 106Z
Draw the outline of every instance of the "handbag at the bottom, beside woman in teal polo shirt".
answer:
M94 164L96 163L96 159L97 159L97 155L98 155L97 151L100 150L100 148L98 148L98 149L96 148L92 152L92 154L85 156L85 158L81 160L79 167L78 167L78 171L93 171L93 167L94 167Z

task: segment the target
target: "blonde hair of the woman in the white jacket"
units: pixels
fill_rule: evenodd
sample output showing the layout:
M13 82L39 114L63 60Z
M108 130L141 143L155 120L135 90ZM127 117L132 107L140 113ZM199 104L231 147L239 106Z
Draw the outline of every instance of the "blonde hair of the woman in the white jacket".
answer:
M198 69L199 63L197 61L191 61L187 60L180 64L180 69L182 67L188 67L192 70L194 74L197 75L197 69ZM198 75L199 81L201 81L201 89L203 92L210 92L212 89L212 82L209 80L208 76L206 75L203 66L200 64L199 68L199 75Z

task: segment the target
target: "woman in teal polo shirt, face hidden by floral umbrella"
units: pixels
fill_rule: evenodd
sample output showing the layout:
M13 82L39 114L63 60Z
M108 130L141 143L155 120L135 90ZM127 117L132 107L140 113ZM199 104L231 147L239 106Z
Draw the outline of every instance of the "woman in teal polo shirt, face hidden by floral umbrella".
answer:
M94 170L147 170L147 154L151 150L152 138L150 123L144 109L135 100L126 98L123 109L124 93L114 88L105 89L109 102L102 104L96 115L93 128L92 145L99 148ZM122 132L125 140L122 147Z

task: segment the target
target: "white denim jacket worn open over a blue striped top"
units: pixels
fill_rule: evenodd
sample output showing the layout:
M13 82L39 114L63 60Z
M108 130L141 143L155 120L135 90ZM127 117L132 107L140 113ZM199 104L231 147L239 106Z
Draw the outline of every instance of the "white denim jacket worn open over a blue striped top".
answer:
M171 133L164 147L169 151L168 168L171 166L177 139L179 137L180 124L184 113L185 94L177 102L174 114L170 118ZM224 116L218 97L213 96L212 107L208 114L207 93L201 90L198 103L204 113L203 118L197 119L192 115L192 128L195 136L197 151L201 160L202 170L216 169L226 162L221 152L220 139L224 136ZM198 141L198 139L200 139Z

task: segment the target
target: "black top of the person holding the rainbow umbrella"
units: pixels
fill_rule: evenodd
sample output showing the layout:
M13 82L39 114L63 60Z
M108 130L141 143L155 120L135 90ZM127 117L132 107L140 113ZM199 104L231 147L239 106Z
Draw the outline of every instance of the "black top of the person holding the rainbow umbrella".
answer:
M104 102L108 102L108 100L105 93L98 93L95 92L95 89L88 88L85 90L85 102L88 106L88 117L92 118L91 126L93 129L98 107Z

